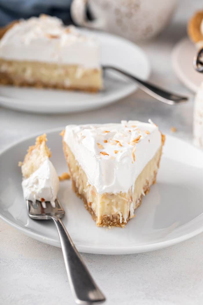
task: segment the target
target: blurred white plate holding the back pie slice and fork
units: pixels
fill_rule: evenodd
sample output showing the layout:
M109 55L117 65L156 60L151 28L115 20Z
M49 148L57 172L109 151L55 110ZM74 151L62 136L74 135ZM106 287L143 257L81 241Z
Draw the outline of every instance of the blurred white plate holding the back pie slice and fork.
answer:
M100 42L102 64L120 67L144 80L149 77L149 62L141 48L111 34L94 32L94 35ZM99 93L0 86L0 105L29 112L69 113L105 106L137 88L116 72L105 72L103 80L104 88Z

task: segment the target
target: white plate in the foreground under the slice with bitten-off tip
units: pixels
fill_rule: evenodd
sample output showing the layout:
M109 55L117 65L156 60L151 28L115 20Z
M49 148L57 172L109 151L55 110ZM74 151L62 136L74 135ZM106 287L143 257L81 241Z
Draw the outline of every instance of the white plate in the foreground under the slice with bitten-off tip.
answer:
M67 170L59 130L47 133L58 174ZM27 215L21 189L18 161L34 137L9 147L0 155L0 217L26 235L60 246L51 221L34 221ZM167 247L203 231L203 153L193 146L166 137L157 177L149 195L125 228L98 228L82 201L71 189L71 181L60 182L58 197L66 211L63 219L81 252L128 254Z

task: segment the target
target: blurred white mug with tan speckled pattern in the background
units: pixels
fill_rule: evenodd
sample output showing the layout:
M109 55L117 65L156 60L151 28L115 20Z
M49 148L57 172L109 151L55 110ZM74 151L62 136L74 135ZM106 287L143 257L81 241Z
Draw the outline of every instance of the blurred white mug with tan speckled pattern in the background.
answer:
M137 41L163 30L176 4L177 0L73 0L71 17L80 26ZM93 21L87 20L87 5Z

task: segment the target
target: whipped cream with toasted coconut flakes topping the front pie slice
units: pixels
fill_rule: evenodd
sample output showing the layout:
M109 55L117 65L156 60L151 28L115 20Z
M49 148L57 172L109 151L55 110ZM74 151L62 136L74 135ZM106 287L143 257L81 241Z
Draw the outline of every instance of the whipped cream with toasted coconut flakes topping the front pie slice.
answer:
M151 121L68 125L64 141L98 193L119 193L134 186L161 146L161 133Z

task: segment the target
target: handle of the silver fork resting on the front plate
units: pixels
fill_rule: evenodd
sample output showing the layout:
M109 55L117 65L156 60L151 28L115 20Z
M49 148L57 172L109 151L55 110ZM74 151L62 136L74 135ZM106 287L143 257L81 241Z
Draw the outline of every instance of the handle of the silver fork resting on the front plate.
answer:
M104 302L105 296L97 287L92 276L87 270L87 267L75 248L63 222L59 217L54 216L51 218L58 230L68 280L75 297L75 302L77 304Z

